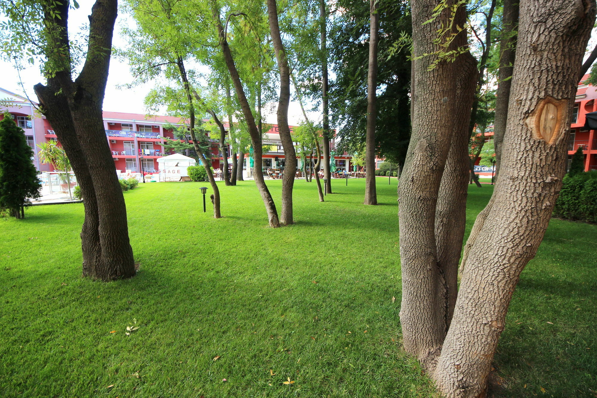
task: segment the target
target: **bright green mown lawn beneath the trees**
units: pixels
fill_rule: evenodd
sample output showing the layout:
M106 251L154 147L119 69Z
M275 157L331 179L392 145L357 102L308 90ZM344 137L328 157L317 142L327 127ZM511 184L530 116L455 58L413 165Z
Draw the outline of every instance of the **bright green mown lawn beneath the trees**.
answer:
M399 348L396 180L378 179L375 207L364 180L344 184L319 203L297 181L279 229L253 182L220 186L219 220L198 183L141 184L125 192L140 271L114 283L80 277L81 204L0 219L0 396L435 396ZM491 189L469 188L469 228ZM498 396L594 396L596 244L597 226L552 221L513 297Z

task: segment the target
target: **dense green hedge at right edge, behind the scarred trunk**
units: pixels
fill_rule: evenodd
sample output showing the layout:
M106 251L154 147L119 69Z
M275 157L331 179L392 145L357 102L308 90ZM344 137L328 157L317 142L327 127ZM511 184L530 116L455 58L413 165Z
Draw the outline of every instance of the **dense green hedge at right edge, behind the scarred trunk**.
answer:
M597 222L597 171L568 173L562 182L553 216Z

